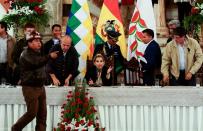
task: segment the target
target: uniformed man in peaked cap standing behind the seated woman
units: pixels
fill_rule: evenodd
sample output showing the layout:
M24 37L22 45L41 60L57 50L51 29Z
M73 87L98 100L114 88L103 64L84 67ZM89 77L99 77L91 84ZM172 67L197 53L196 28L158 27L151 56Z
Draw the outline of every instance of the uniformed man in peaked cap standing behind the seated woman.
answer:
M107 59L113 58L114 71L113 71L113 84L117 84L117 75L122 71L124 65L124 57L121 53L120 46L117 45L118 37L121 34L114 30L107 31L107 41L99 44L95 47L94 56L97 53L101 53L107 57Z

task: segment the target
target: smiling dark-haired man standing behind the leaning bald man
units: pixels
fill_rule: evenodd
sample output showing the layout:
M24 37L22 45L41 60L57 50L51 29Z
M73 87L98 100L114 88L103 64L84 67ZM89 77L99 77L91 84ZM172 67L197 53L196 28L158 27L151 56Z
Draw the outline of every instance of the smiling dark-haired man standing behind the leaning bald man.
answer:
M61 34L62 34L61 25L59 25L59 24L54 24L54 25L51 27L51 30L52 30L52 35L53 35L53 37L52 37L49 41L47 41L47 42L44 44L44 54L45 54L45 55L49 54L50 49L51 49L54 45L60 43L60 38L61 38Z

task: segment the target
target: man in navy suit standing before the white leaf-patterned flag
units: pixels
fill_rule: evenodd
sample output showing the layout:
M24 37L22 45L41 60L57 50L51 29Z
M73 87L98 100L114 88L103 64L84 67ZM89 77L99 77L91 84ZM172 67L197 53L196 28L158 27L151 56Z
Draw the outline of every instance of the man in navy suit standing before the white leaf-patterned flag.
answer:
M156 73L161 67L161 50L159 44L153 39L153 30L145 29L142 33L142 41L144 44L147 44L147 48L144 52L144 58L147 63L141 61L143 84L151 86L154 85Z

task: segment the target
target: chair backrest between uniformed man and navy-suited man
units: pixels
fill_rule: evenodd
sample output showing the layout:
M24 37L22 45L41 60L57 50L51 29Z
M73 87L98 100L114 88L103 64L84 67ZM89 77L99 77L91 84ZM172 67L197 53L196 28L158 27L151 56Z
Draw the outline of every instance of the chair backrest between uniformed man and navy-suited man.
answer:
M125 85L137 86L142 84L139 62L134 57L127 62L124 70Z

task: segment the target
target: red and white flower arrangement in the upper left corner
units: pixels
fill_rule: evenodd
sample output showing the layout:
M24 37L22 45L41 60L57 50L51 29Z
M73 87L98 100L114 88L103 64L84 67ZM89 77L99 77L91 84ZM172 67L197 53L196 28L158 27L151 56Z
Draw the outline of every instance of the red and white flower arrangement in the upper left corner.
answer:
M38 27L46 26L49 22L49 12L45 9L46 0L7 0L10 9L2 21L9 27L23 27L26 23L33 23Z

